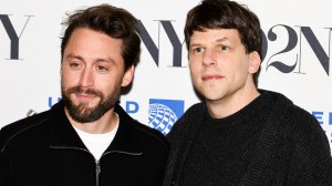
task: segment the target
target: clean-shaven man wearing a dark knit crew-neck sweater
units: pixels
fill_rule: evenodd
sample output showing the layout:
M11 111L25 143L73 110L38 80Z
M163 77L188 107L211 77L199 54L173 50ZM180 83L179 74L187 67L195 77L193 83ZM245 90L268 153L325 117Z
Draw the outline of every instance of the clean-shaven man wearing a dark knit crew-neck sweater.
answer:
M318 121L282 94L258 90L260 23L229 0L187 14L193 105L167 135L164 185L330 186L332 159Z

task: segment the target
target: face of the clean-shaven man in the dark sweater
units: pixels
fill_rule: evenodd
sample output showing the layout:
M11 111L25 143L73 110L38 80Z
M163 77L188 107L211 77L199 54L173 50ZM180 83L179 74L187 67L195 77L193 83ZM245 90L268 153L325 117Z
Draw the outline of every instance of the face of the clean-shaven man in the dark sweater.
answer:
M236 95L257 71L236 29L195 31L188 52L193 83L210 103Z

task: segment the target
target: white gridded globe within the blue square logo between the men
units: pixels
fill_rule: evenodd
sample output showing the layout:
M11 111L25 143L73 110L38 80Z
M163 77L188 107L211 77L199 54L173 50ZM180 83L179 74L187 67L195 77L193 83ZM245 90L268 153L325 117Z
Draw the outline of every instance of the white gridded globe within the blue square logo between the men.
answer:
M159 103L149 104L148 126L156 128L166 135L169 133L176 121L176 114L168 106Z

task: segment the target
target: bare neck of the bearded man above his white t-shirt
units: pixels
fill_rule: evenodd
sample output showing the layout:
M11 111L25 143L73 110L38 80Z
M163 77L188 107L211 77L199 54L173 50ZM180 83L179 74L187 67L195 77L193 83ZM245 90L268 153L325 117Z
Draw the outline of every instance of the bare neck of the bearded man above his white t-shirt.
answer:
M114 108L107 111L101 118L91 123L76 122L71 117L66 108L64 111L66 117L74 127L91 134L108 133L114 130L116 124L118 123L118 116L114 112Z

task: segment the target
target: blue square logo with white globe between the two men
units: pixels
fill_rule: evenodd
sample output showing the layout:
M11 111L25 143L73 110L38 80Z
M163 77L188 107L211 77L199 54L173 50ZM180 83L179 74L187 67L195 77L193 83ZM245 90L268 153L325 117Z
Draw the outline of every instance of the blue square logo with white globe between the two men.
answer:
M168 134L173 124L184 114L184 101L149 100L148 126Z

